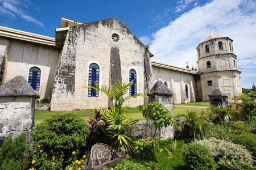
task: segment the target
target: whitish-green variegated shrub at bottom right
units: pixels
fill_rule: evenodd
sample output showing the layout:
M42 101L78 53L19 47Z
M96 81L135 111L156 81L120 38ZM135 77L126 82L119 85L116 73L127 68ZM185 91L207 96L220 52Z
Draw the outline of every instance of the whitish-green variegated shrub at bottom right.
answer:
M253 167L253 158L242 146L220 139L209 138L199 141L209 148L221 169L244 169Z

